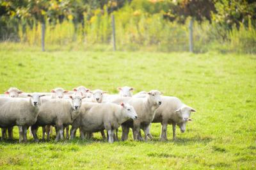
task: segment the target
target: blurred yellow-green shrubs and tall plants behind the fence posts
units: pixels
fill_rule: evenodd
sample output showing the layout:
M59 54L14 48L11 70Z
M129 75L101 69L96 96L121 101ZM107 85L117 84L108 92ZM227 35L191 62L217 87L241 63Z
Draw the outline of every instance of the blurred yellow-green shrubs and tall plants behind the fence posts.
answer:
M46 49L111 50L111 14L118 50L188 51L195 20L195 52L255 53L256 3L234 0L1 1L0 38Z

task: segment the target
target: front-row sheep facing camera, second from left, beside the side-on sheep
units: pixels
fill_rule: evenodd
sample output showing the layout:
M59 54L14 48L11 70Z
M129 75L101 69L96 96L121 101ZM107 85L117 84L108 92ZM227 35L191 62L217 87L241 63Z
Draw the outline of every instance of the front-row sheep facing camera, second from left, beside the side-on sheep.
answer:
M38 142L36 130L38 126L52 125L56 127L56 139L63 139L63 127L70 125L79 115L79 108L82 104L80 95L70 96L69 100L53 98L42 103L36 123L31 127L33 137ZM43 135L44 139L44 135ZM47 135L49 140L49 135Z

